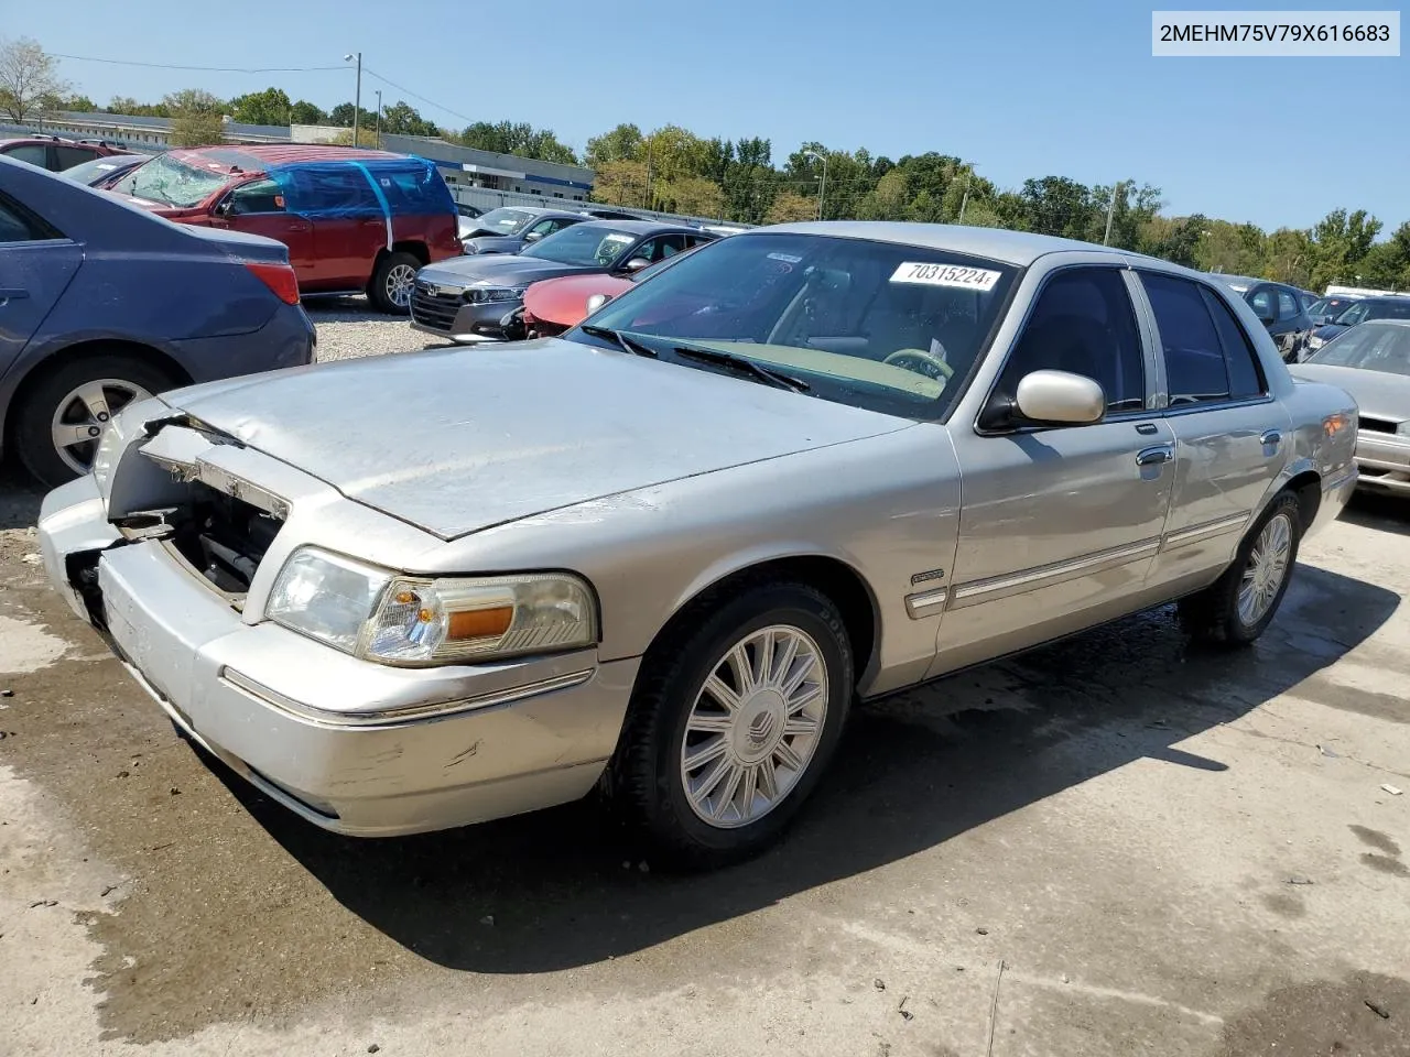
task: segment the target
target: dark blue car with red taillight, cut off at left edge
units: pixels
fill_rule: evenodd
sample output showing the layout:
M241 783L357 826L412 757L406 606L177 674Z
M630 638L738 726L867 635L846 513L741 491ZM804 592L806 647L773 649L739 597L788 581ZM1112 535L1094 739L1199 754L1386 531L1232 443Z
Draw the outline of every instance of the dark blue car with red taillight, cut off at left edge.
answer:
M87 472L127 403L313 347L283 244L0 158L0 448L42 483Z

